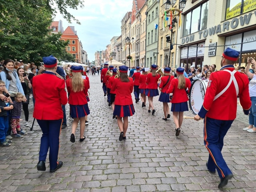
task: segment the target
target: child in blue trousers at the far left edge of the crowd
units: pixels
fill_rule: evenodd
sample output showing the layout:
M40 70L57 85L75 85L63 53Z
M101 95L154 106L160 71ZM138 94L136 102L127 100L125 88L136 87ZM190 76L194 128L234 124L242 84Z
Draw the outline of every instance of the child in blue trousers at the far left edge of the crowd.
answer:
M5 90L5 82L0 80L0 94ZM6 139L8 131L8 111L13 109L13 105L6 103L0 99L0 145L7 147L10 146L12 140Z

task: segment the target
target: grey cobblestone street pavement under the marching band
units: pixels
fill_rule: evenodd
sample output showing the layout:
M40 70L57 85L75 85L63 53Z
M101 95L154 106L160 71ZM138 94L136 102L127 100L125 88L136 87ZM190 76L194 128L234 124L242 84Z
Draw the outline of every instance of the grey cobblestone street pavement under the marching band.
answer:
M203 121L184 120L180 137L175 137L172 117L162 120L162 103L156 97L155 116L141 108L141 102L134 103L136 114L130 117L128 139L119 142L117 122L103 97L100 77L89 78L91 114L85 141L69 141L72 119L67 115L68 128L60 138L63 167L50 173L47 160L46 171L38 171L41 132L28 131L22 116L21 125L29 134L0 148L0 192L256 191L256 134L242 131L248 117L239 114L224 139L224 159L234 178L219 190L217 173L209 173L205 166L208 152L203 145ZM66 109L69 114L68 105ZM29 110L32 124L32 105ZM185 115L193 116L190 112ZM34 130L38 129L35 123Z

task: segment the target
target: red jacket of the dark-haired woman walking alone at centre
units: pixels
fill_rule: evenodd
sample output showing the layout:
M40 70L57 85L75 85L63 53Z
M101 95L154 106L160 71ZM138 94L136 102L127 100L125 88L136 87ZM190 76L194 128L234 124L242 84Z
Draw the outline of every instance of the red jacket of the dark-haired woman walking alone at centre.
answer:
M122 82L121 78L115 78L111 91L116 90L115 105L132 105L133 99L133 79L129 77L130 82ZM111 92L110 91L110 92Z

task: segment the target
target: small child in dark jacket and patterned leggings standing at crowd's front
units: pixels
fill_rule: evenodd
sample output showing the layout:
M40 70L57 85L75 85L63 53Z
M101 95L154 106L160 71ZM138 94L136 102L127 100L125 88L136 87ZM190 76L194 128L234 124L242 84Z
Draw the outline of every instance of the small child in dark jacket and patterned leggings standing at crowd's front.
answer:
M13 102L13 110L11 114L11 128L15 138L22 138L23 135L27 135L26 132L20 129L20 116L22 108L22 93L16 93ZM17 129L17 130L16 130Z

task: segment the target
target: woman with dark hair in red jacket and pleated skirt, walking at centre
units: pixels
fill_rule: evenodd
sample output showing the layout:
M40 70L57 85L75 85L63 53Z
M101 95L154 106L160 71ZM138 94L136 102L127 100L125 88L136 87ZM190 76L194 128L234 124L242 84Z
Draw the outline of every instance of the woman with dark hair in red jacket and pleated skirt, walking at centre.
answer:
M116 90L115 107L113 115L117 115L117 125L120 130L119 141L126 139L126 131L128 128L128 117L135 112L133 106L133 79L127 75L128 67L120 66L120 77L115 78L111 91ZM122 121L123 118L123 121Z

